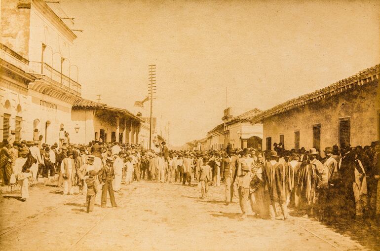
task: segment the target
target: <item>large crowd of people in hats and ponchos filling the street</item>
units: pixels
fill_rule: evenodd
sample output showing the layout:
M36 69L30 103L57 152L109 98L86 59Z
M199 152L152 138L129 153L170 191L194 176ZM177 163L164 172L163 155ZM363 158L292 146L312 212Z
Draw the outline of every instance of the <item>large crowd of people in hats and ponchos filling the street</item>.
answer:
M288 218L288 209L304 217L356 217L380 219L380 143L351 147L343 143L317 149L274 150L232 148L222 150L169 150L165 142L155 150L139 144L87 145L60 141L3 140L0 168L4 184L21 186L21 198L29 197L29 182L58 176L63 194L87 193L87 211L93 210L102 185L101 206L107 193L116 207L114 192L121 184L148 179L156 182L196 185L206 198L209 186L225 184L226 205L236 197L242 217L248 201L261 218ZM322 158L323 156L323 158Z

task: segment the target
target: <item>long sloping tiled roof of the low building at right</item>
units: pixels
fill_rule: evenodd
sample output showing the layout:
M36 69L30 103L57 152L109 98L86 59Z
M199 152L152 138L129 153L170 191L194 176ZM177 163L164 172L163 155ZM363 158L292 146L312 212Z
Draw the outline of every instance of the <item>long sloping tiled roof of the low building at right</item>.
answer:
M262 119L288 111L293 108L301 107L319 100L329 98L349 89L360 88L360 86L372 82L375 78L379 79L380 64L356 73L350 77L339 80L325 88L302 95L298 98L288 100L285 103L267 109L250 119L251 123L258 123Z

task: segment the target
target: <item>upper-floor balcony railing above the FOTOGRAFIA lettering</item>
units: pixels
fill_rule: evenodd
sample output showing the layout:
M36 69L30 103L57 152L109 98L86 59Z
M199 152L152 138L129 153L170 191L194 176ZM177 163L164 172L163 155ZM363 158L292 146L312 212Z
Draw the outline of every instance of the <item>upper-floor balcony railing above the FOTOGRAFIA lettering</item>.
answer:
M51 81L57 85L62 87L63 89L66 89L68 91L74 92L76 95L81 94L82 92L82 86L71 79L70 77L61 74L61 72L58 72L57 70L54 70L51 66L49 66L46 63L43 62L36 62L32 61L29 63L29 66L33 72L36 72L38 74L42 74L48 78L51 79Z

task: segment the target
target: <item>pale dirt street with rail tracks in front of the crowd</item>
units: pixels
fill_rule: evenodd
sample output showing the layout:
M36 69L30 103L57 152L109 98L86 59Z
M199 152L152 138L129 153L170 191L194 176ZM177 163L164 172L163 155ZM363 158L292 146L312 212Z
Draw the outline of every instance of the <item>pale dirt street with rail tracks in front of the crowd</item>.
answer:
M289 220L240 219L238 198L226 206L224 185L199 198L196 185L151 181L123 185L118 208L85 212L85 195L63 196L54 185L0 198L1 250L379 250L379 231L361 223L326 226ZM108 206L111 207L108 201Z

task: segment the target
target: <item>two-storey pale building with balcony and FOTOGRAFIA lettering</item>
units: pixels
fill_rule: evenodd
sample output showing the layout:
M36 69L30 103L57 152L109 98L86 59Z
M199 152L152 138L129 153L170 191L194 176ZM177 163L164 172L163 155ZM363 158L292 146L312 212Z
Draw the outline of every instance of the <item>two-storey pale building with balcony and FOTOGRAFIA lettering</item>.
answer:
M16 130L18 139L36 140L37 135L53 144L59 141L60 128L70 135L75 132L71 109L81 97L78 69L70 61L75 39L45 1L1 1L1 65L5 66L0 77L0 140ZM11 83L9 78L24 84Z

